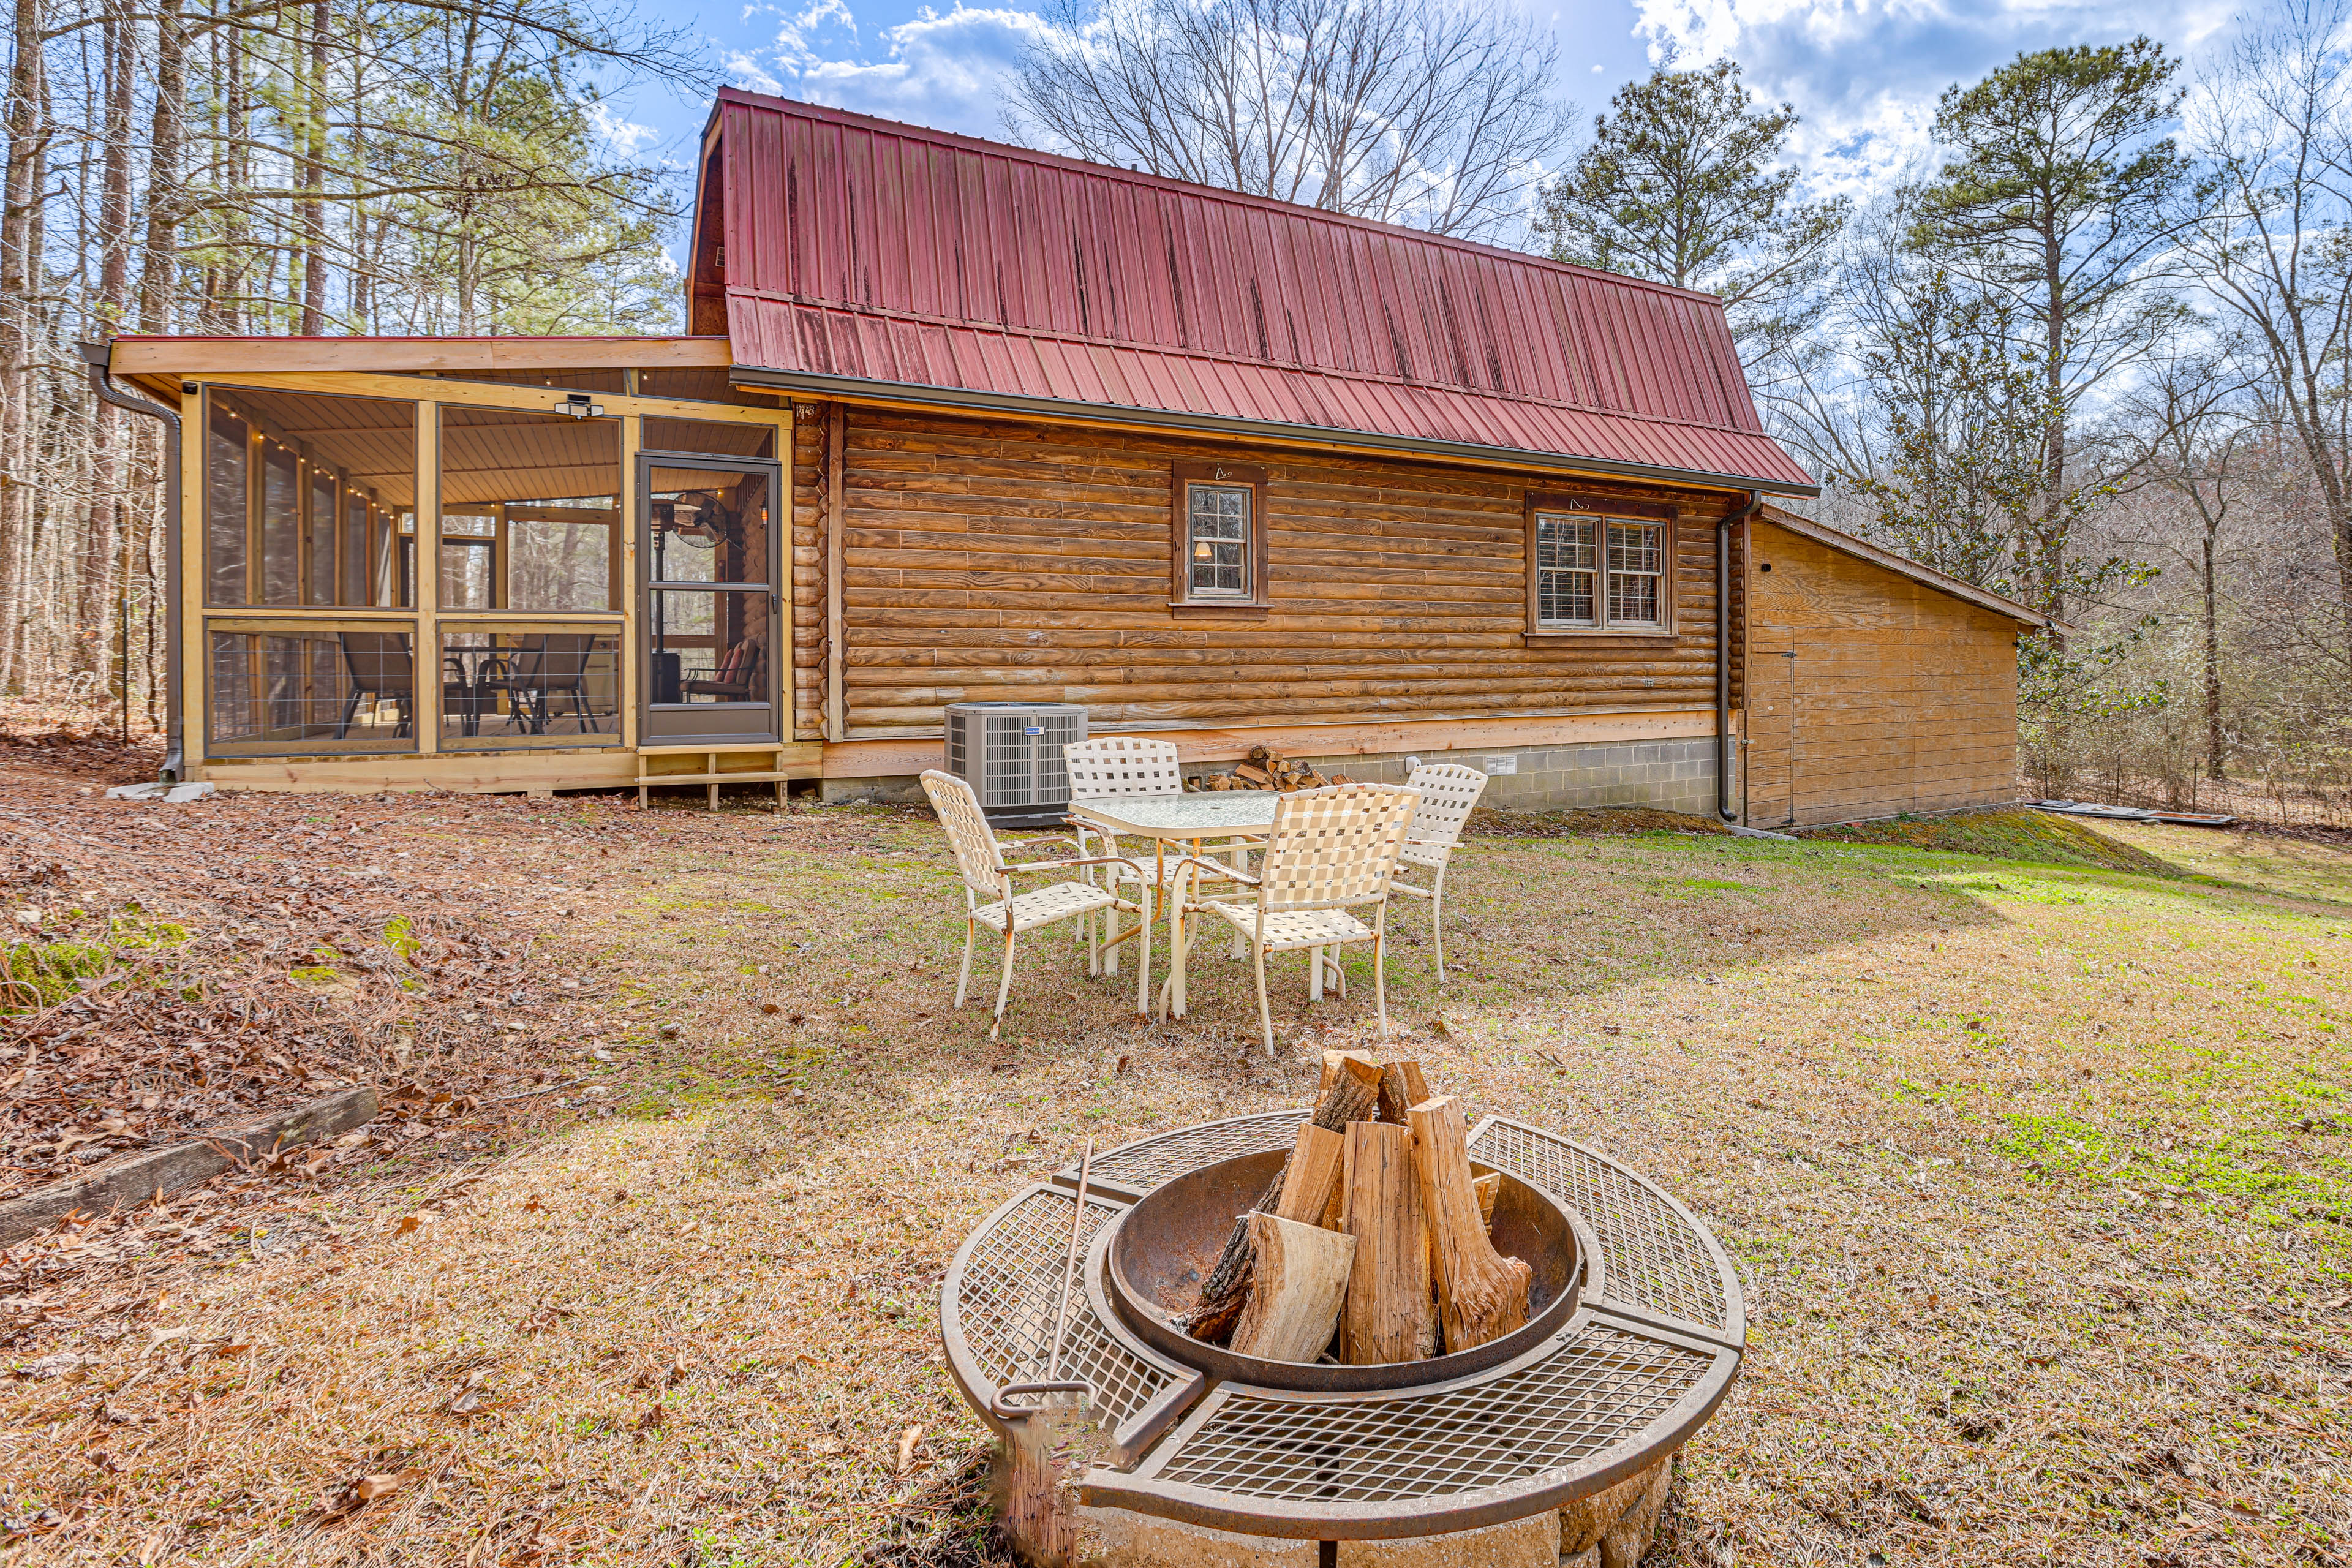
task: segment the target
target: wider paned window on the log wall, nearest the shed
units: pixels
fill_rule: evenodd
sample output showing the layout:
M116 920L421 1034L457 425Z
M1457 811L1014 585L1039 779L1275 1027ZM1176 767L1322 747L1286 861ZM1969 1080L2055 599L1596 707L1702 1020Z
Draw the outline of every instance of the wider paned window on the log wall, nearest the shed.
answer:
M1672 520L1665 508L1541 498L1526 517L1526 630L1670 632ZM1639 515L1639 512L1656 515Z

